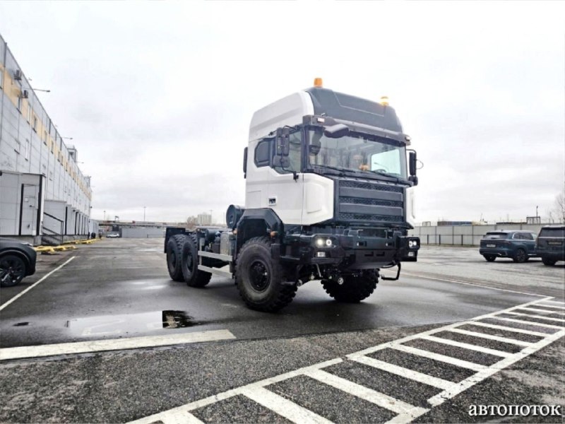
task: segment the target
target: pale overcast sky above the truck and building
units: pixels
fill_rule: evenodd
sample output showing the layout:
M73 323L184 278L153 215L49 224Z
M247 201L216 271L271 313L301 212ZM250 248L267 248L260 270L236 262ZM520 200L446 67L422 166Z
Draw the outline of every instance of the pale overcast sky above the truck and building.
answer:
M224 219L255 110L322 77L391 105L417 220L547 216L565 185L565 3L0 2L92 176L93 218Z

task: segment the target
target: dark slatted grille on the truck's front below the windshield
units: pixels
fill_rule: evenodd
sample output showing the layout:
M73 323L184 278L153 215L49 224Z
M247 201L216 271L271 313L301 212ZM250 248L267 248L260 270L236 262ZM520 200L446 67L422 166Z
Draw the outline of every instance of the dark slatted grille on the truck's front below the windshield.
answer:
M381 182L336 181L335 216L357 223L403 223L404 189Z

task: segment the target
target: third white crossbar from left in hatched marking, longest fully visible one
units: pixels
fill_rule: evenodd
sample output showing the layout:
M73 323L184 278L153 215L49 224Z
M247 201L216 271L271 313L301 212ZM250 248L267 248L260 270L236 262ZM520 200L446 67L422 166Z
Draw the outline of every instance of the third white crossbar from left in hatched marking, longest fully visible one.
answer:
M414 417L427 412L427 409L407 404L399 399L379 393L379 391L369 389L369 387L364 387L361 384L350 382L348 379L338 377L337 375L330 374L323 370L309 370L304 372L304 375L314 378L323 384L328 384L336 389L345 391L345 393L352 394L353 396L357 396L365 401L369 401L371 404L381 406L381 408L386 408L389 411L408 415L413 413Z

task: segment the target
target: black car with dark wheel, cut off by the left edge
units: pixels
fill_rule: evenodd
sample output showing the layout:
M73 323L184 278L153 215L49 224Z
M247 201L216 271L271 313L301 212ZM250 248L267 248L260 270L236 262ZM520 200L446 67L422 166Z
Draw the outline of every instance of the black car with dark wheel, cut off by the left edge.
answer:
M11 287L34 274L36 259L30 243L0 237L0 286Z

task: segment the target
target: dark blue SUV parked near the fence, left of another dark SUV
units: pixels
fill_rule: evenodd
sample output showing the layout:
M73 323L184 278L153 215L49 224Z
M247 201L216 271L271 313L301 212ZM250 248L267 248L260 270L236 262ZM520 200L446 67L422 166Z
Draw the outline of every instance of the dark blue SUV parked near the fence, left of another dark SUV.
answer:
M492 262L496 258L511 258L515 262L525 262L535 257L535 238L531 231L490 231L481 239L479 253Z

